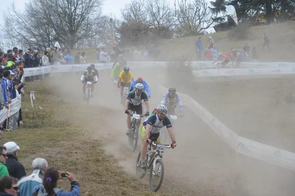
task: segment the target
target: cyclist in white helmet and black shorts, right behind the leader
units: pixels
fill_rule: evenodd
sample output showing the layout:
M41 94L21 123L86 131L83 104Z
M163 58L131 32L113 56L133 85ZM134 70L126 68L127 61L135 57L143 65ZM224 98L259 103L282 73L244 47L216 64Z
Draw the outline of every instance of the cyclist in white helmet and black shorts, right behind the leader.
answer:
M144 100L145 105L147 106L147 112L145 113L145 116L150 115L150 107L148 105L148 95L143 91L144 85L141 83L137 83L135 85L135 91L130 91L129 95L127 96L126 102L125 102L125 114L129 114L134 109L136 114L142 115L142 105L141 101ZM129 134L130 129L130 122L131 122L131 116L127 116L127 132L126 135ZM138 119L138 124L141 124L141 118Z

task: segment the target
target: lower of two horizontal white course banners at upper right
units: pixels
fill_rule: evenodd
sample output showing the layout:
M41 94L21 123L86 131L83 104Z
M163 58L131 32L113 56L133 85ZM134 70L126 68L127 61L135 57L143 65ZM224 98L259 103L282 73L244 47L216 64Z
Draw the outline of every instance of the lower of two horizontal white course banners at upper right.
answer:
M282 75L295 74L295 68L269 69L269 68L237 68L237 69L207 69L195 70L195 77L207 76L246 76L246 75Z

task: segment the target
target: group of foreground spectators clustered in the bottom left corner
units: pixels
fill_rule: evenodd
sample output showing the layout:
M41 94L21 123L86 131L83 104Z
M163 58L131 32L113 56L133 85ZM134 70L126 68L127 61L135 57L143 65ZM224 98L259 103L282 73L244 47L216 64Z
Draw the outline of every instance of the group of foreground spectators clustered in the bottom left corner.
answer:
M0 146L0 196L79 196L80 185L75 176L55 168L48 168L47 160L36 158L32 162L32 173L26 175L25 168L17 159L20 147L15 142ZM70 191L57 187L61 178L70 181Z

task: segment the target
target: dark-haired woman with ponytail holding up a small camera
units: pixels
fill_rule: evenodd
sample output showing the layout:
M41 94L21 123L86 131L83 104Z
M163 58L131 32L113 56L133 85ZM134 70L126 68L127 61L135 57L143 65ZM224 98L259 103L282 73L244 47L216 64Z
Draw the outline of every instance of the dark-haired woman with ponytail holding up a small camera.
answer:
M57 181L63 177L71 182L71 191L63 191L57 187ZM43 176L43 182L33 189L33 196L79 196L80 185L73 174L58 171L57 169L47 169Z

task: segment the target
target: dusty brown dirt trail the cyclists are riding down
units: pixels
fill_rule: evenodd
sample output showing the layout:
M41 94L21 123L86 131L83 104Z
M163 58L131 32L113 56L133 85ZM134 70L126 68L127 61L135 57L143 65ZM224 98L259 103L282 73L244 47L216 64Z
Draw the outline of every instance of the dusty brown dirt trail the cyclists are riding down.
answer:
M157 76L153 75L155 71L132 72L134 77L141 76L148 82L152 94L150 108L156 107L163 93L157 90ZM109 73L100 72L90 107L82 100L82 84L79 78L80 75L67 77L66 80L56 78L54 85L61 84L61 81L66 82L62 89L57 88L61 90L61 98L81 103L81 107L77 109L87 108L89 115L100 116L99 122L84 122L89 127L99 127L88 129L87 132L101 139L105 143L106 152L113 154L126 171L135 175L135 160L140 144L134 153L129 152L125 135L126 115L119 103L120 95L114 95L112 91ZM179 195L229 195L231 192L246 195L247 191L255 195L293 194L295 189L290 171L244 156L237 158L234 151L204 125L199 117L188 108L186 111L186 116L177 121L178 146L164 153L165 176L159 191ZM147 180L148 177L144 179ZM239 183L234 185L237 180Z

